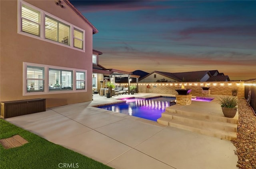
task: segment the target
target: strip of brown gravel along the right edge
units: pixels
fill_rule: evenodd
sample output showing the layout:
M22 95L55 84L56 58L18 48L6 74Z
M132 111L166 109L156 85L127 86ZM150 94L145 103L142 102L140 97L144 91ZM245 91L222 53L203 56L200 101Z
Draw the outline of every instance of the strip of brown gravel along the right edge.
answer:
M239 169L256 169L256 116L245 99L239 99L239 122L236 146Z

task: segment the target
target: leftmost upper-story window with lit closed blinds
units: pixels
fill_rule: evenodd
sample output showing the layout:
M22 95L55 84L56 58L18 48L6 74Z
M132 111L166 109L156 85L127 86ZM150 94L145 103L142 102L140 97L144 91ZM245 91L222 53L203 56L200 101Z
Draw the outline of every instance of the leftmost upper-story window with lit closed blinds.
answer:
M21 31L40 36L40 12L24 4L21 9Z

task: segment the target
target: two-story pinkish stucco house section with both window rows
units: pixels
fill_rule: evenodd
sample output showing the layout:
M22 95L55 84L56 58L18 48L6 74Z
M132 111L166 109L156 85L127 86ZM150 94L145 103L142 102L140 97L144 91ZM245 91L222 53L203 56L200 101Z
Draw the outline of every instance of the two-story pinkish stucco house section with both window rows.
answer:
M0 101L92 100L92 36L68 0L0 0Z

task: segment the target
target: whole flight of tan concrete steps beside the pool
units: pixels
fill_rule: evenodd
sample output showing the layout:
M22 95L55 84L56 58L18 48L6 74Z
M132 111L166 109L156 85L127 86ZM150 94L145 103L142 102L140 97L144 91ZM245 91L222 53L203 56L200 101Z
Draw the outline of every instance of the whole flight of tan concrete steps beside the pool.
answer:
M227 118L219 112L219 107L216 109L213 107L210 111L212 112L204 107L198 110L198 108L190 109L188 106L173 105L166 107L166 111L157 122L221 139L236 140L238 113L234 118Z

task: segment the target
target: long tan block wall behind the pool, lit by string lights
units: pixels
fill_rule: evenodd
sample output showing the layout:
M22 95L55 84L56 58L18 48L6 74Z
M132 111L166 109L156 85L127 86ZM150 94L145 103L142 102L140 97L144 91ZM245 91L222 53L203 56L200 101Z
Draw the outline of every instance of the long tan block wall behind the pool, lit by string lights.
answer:
M139 83L139 93L159 93L159 94L178 94L175 89L180 89L181 85L186 89L192 89L190 94L193 96L202 96L202 88L205 85L210 87L211 95L232 95L232 89L238 89L238 97L244 97L244 82L166 82L166 83ZM128 86L128 84L118 84ZM131 85L136 85L132 83ZM148 88L147 85L150 87Z

